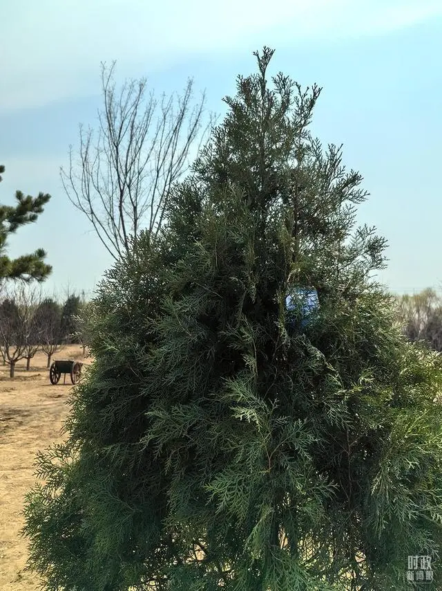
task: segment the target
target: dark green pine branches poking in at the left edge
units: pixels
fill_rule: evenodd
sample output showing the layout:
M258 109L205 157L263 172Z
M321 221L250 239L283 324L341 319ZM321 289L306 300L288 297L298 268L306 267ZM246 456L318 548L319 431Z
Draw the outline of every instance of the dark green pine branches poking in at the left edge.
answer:
M4 171L5 167L0 165L0 172ZM5 250L8 236L15 233L20 226L36 221L50 195L39 193L38 197L31 197L17 191L15 198L18 202L15 207L0 206L0 284L3 279L43 281L52 271L52 267L44 262L46 253L43 248L17 259L10 259Z

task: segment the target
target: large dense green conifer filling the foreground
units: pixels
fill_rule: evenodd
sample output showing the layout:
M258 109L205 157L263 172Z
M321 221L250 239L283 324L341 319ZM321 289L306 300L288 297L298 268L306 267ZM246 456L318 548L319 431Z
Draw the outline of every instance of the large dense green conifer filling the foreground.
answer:
M441 583L441 360L371 278L385 241L309 134L320 89L271 87L272 54L99 288L95 362L26 503L48 590L398 590L416 554Z

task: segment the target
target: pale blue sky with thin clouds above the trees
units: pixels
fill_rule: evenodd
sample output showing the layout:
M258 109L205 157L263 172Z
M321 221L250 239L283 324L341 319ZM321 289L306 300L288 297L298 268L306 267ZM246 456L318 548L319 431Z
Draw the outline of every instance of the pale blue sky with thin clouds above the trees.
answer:
M222 116L264 45L276 50L271 73L323 87L312 130L342 143L347 167L363 174L370 197L358 221L389 245L378 280L396 293L441 289L441 0L2 2L0 203L17 189L52 196L9 254L44 248L44 289L57 293L93 293L112 264L59 178L79 124L96 125L101 62L157 93L191 77Z

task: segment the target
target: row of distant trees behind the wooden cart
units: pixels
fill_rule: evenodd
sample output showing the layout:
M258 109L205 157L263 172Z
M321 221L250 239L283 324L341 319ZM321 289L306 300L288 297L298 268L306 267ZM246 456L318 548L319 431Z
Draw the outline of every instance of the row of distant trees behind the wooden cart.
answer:
M26 370L35 354L41 350L48 357L63 345L79 344L86 353L86 322L90 302L75 294L64 302L41 297L36 289L24 283L14 286L0 300L0 354L3 365L10 366L10 377L15 365L26 359Z

